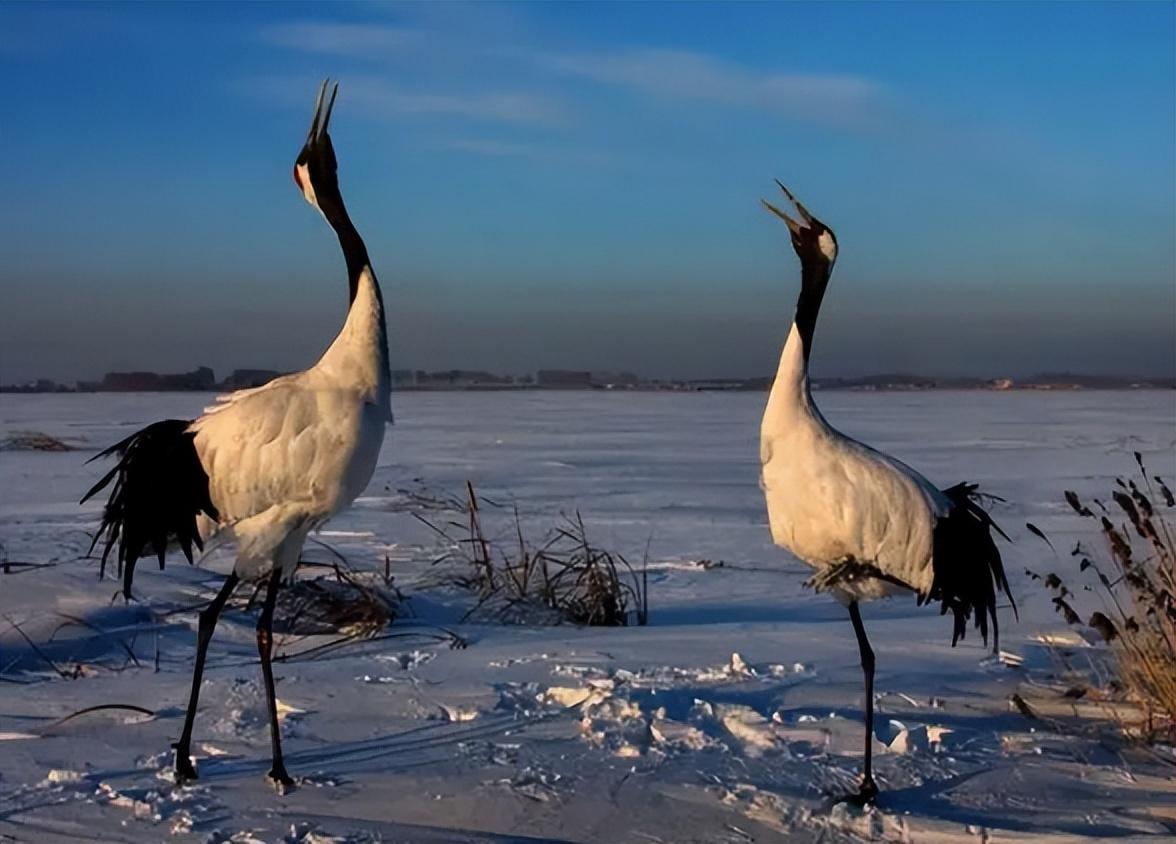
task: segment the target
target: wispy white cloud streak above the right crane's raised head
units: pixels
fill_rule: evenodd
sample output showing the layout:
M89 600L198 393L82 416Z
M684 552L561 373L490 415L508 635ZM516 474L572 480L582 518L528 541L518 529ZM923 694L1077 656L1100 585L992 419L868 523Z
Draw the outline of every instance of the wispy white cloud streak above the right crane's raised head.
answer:
M560 53L544 63L559 72L647 95L704 100L783 112L829 122L856 122L877 105L882 87L850 74L763 73L704 53L628 49Z

